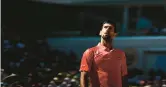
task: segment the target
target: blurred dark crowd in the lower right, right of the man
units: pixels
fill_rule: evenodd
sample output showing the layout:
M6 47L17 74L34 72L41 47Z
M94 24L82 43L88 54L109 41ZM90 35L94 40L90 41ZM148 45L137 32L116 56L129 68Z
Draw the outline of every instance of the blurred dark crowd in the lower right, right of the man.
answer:
M166 87L166 72L161 69L150 69L148 72L129 69L128 82L130 87Z

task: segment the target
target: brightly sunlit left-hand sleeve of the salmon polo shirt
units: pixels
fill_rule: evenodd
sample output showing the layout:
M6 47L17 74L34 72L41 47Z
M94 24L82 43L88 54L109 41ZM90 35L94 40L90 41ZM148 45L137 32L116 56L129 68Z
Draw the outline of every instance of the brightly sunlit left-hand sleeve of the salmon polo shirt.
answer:
M93 60L93 52L87 49L82 56L80 71L90 72Z

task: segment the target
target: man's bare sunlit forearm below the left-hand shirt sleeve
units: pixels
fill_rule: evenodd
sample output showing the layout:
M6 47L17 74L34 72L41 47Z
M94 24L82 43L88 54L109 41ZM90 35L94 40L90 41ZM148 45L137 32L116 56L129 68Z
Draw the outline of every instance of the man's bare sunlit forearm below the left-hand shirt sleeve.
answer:
M88 87L88 72L81 72L80 87Z

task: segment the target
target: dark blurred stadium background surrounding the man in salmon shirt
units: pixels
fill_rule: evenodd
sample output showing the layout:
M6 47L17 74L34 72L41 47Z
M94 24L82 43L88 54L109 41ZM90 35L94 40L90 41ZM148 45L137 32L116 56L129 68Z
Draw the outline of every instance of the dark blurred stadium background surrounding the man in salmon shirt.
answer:
M1 1L2 87L79 87L82 53L107 19L130 87L166 87L165 0Z

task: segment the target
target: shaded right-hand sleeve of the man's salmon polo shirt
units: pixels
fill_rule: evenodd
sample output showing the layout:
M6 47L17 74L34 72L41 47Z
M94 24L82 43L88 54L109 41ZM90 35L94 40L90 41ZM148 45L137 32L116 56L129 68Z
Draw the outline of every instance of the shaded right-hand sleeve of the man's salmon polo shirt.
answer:
M126 56L125 53L122 54L122 76L127 75L127 64L126 64Z

